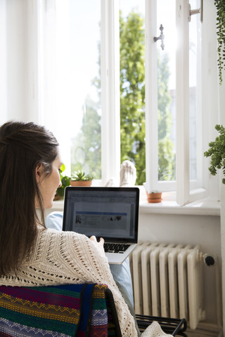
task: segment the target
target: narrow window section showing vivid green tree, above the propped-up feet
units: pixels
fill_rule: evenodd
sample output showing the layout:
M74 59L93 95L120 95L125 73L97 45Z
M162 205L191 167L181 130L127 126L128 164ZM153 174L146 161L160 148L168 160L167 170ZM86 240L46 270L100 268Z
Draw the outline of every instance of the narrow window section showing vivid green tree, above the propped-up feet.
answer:
M120 0L120 142L121 162L146 181L144 0Z

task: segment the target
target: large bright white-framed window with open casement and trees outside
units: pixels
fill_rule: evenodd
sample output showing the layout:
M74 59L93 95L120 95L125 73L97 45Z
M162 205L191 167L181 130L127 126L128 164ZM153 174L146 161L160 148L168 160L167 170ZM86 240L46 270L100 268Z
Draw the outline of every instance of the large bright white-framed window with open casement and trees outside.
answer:
M181 205L203 197L200 15L188 22L184 0L41 4L41 118L66 166L105 185L130 159L149 192L176 190Z

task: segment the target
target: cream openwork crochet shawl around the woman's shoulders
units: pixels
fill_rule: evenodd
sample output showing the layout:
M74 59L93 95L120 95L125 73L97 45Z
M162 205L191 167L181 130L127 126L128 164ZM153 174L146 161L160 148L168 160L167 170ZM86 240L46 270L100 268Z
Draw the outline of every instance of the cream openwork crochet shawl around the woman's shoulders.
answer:
M0 284L8 286L73 283L107 284L113 292L122 336L137 336L134 318L115 284L107 258L101 256L94 243L82 234L39 229L32 257L25 260L16 276L13 273L0 276ZM158 324L151 326L152 331L146 329L142 336L165 336Z

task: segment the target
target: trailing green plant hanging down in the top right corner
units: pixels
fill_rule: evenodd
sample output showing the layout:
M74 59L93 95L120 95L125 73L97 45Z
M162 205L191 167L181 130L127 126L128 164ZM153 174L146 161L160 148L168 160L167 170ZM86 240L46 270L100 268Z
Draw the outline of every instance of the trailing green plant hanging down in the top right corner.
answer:
M222 72L225 70L225 1L214 0L217 8L217 65L219 68L219 84L222 84Z

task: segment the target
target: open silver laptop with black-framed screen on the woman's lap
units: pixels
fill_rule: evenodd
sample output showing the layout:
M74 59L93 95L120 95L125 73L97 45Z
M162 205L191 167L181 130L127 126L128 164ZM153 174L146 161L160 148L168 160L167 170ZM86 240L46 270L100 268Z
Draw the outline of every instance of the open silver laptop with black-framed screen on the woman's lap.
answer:
M63 230L103 237L108 262L122 263L138 242L138 187L66 187Z

